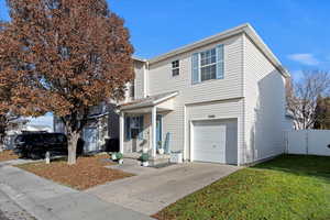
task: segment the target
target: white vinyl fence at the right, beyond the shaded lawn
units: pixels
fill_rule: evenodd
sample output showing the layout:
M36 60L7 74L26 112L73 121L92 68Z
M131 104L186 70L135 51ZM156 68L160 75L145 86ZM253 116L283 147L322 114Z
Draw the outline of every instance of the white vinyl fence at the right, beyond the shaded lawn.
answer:
M330 130L285 132L286 153L330 156Z

